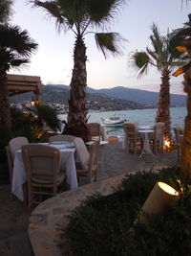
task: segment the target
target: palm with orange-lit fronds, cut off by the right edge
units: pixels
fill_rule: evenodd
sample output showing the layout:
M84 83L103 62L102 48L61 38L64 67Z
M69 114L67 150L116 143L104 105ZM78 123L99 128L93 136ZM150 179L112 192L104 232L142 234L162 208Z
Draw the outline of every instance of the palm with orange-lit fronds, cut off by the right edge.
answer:
M184 120L183 142L181 145L181 171L185 176L191 176L191 13L188 15L188 18L189 21L185 23L185 27L180 30L181 46L177 47L178 50L186 53L188 61L186 65L179 68L173 74L175 77L184 74L184 92L187 93L187 116Z

